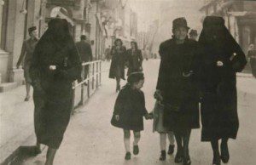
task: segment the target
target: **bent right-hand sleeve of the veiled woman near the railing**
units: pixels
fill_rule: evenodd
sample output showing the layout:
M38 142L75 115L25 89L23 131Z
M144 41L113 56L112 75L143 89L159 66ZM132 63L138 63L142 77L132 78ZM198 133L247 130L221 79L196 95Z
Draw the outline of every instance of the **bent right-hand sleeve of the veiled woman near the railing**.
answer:
M67 69L67 70L59 69L56 74L59 77L62 77L69 81L74 81L74 80L80 79L82 65L81 65L79 52L78 52L77 48L74 46L74 44L70 50L70 56L69 56L68 60L70 61L71 67L69 67L69 69Z

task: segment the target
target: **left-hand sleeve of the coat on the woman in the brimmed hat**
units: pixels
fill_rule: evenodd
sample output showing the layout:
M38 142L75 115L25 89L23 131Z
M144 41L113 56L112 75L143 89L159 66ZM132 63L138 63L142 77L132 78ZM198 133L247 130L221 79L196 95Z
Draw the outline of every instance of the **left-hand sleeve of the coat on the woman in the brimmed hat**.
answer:
M164 60L164 49L162 44L160 44L159 54L161 59L160 59L160 69L159 69L156 89L162 91L165 88L165 65L166 65Z

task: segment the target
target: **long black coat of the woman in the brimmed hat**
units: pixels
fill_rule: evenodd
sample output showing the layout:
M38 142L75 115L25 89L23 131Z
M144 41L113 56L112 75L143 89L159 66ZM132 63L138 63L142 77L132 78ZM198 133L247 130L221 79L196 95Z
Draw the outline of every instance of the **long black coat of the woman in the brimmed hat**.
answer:
M177 44L172 38L160 44L159 53L157 89L164 98L164 126L172 130L199 128L198 44L188 38ZM189 71L193 71L191 76L184 77ZM171 111L170 105L177 106L179 112Z

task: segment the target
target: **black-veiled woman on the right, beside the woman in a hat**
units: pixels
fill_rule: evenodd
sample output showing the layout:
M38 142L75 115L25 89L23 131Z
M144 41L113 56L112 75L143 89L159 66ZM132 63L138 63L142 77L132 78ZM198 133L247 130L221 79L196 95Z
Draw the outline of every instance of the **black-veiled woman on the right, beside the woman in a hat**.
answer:
M201 141L212 144L212 164L229 162L228 139L238 131L236 72L247 64L245 54L224 26L224 19L207 16L199 38L201 56ZM218 151L221 139L221 155Z

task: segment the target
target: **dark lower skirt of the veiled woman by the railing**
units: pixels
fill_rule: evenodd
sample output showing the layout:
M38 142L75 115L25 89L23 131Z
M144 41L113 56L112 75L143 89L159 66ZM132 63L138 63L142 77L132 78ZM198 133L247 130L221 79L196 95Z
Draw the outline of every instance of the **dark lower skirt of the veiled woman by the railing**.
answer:
M60 88L56 88L56 85L60 85ZM55 84L48 90L34 89L33 99L34 127L38 143L58 149L70 120L72 84Z

